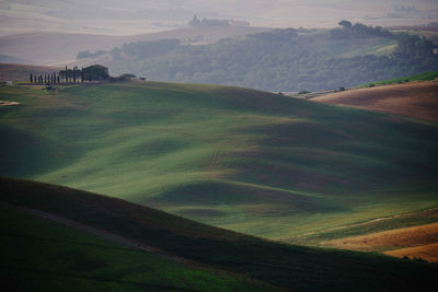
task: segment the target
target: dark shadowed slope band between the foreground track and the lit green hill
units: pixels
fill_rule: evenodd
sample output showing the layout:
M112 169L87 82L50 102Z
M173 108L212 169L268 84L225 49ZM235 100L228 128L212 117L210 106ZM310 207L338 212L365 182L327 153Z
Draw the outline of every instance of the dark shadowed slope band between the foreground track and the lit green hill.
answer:
M50 212L211 267L300 291L415 290L436 267L376 254L286 245L204 225L120 199L0 178L1 201Z

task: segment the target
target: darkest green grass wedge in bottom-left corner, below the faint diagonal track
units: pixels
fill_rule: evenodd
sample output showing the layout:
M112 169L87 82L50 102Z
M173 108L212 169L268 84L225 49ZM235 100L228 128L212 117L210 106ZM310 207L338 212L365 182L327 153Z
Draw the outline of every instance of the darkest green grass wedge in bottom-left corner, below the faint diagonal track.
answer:
M244 277L128 248L3 206L0 219L0 279L8 291L267 291Z

